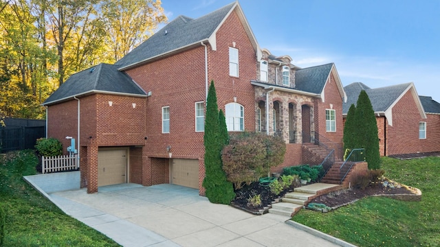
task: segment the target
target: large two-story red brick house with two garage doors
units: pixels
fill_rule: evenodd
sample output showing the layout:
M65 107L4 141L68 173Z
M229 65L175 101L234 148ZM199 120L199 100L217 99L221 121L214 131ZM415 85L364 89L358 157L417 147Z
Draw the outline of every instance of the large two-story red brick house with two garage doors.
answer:
M213 80L228 131L280 134L287 143L284 163L272 172L309 163L313 145L303 143L342 144L347 96L334 64L301 69L291 62L259 47L238 2L198 19L178 16L115 64L66 80L43 104L47 136L64 146L66 136L77 137L88 193L117 183L173 183L203 195Z

